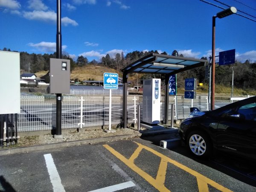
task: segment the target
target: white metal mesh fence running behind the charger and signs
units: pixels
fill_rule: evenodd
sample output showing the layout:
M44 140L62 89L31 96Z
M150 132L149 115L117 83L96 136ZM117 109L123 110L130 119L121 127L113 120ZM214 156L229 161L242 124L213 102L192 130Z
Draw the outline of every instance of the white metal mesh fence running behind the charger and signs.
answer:
M161 97L160 119L164 119L164 97ZM20 113L18 114L17 130L42 131L51 130L56 126L55 96L21 96ZM142 96L128 96L128 123L137 119L137 105L140 105L141 119L143 111ZM208 111L207 96L196 99L184 99L183 96L169 96L169 117L171 120L171 104L174 104L175 119L184 119L189 108L194 106L201 111ZM109 96L63 96L62 128L85 128L109 125ZM143 119L142 119L143 120ZM112 96L111 124L122 122L122 96Z

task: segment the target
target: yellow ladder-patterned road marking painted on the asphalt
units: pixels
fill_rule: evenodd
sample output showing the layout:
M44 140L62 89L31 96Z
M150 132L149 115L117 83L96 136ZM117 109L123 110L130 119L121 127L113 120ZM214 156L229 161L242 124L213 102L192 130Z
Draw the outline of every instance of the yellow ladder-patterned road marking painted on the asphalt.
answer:
M137 143L137 142L135 142ZM119 160L121 160L122 162L124 162L128 167L130 167L134 172L137 172L141 177L143 177L145 180L148 181L148 183L150 183L152 186L154 186L157 190L159 191L169 191L169 189L167 189L164 186L164 181L165 181L165 177L166 177L166 169L167 169L167 163L172 163L173 165L177 166L180 169L183 169L184 171L188 172L189 174L195 176L197 178L198 181L198 190L199 192L209 192L208 189L208 185L211 185L213 187L215 187L216 189L222 191L222 192L232 192L231 190L225 188L224 186L216 183L215 181L205 177L204 175L201 175L200 173L188 168L187 166L184 166L181 163L178 163L175 160L172 160L169 157L166 157L165 155L154 151L153 149L142 145L140 143L137 143L138 148L134 151L134 154L131 155L131 157L129 159L126 159L124 156L122 156L122 154L119 154L117 151L115 151L113 148L111 148L109 145L103 145L105 148L108 149L108 151L110 151L112 154L114 154ZM160 166L157 172L157 177L156 179L154 179L153 177L151 177L150 175L148 175L146 172L144 172L143 170L141 170L139 167L137 167L134 164L134 160L138 157L138 155L140 154L140 151L142 149L145 149L147 151L150 151L151 153L157 155L158 157L161 158L161 162L160 162Z

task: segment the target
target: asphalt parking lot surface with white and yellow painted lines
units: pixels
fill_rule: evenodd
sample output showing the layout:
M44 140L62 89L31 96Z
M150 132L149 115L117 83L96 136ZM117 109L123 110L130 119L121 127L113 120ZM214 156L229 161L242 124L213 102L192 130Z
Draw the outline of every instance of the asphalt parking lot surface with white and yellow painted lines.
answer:
M183 146L160 148L169 136L0 156L0 191L256 191L255 180L221 165L226 157L198 161Z

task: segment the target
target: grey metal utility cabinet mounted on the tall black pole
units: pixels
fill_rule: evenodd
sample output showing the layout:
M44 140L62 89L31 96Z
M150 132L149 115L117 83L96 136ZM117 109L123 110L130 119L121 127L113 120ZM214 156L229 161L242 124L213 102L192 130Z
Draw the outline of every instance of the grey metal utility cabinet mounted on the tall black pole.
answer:
M50 58L50 93L70 93L70 60Z

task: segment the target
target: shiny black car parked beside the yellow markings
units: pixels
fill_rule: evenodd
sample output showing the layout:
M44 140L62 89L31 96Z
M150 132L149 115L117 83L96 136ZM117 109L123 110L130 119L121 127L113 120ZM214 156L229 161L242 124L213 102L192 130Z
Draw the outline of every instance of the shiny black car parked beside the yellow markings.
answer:
M255 161L256 96L213 111L193 111L179 134L196 157L209 157L217 149Z

